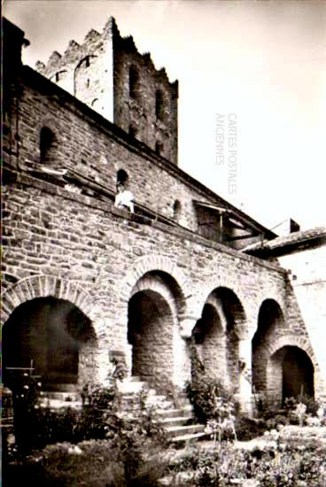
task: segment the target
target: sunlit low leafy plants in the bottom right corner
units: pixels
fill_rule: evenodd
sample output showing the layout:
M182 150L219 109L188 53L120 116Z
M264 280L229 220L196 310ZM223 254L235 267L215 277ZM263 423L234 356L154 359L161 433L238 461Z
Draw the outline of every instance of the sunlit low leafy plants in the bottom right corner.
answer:
M195 445L174 463L170 475L177 478L177 473L188 472L182 487L322 487L326 485L326 429L320 431L321 435L312 437L311 429L290 426L251 445ZM181 483L171 485L180 487Z

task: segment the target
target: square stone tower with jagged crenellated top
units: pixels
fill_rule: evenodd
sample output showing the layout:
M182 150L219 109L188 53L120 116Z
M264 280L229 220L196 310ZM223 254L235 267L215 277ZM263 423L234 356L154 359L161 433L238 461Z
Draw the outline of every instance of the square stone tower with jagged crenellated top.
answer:
M82 44L54 51L39 73L113 121L160 156L177 164L178 81L154 66L133 37L121 37L110 17L102 33L91 29Z

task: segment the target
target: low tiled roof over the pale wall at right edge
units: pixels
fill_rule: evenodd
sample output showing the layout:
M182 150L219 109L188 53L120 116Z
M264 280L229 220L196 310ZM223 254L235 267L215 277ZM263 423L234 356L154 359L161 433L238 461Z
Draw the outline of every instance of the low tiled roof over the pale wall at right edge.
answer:
M242 251L248 253L258 253L260 251L274 251L282 247L296 247L311 240L321 239L326 243L326 227L315 227L309 230L300 230L287 236L278 236L273 240L263 240L262 242L252 243Z

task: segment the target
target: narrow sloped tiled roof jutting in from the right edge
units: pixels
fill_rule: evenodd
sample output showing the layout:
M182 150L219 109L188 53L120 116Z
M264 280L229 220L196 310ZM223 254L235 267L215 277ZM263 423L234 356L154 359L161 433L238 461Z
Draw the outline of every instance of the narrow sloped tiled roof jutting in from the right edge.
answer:
M326 243L326 226L300 230L287 236L278 236L273 240L252 243L242 249L242 251L250 254L281 255L288 251L295 251L299 250L299 248L307 248L311 245L322 243Z

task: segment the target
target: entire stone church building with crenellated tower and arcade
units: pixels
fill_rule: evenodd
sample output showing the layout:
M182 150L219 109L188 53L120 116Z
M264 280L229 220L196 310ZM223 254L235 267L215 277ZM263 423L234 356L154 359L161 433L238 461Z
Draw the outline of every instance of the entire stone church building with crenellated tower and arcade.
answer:
M178 83L114 19L36 70L24 35L4 19L4 382L78 388L119 355L175 396L193 340L248 412L326 399L326 228L277 236L183 172Z

